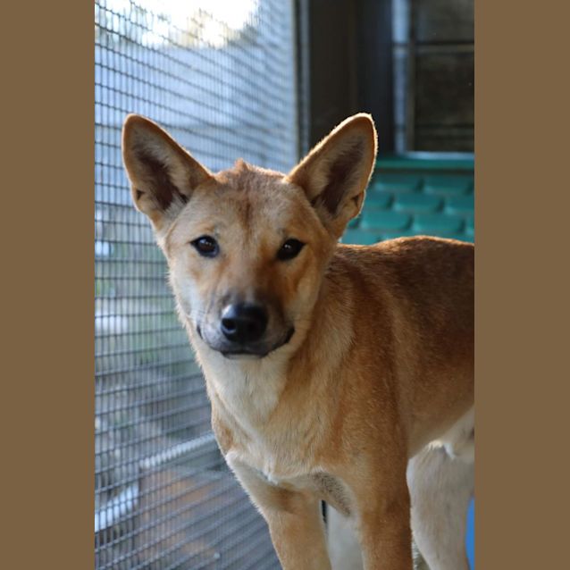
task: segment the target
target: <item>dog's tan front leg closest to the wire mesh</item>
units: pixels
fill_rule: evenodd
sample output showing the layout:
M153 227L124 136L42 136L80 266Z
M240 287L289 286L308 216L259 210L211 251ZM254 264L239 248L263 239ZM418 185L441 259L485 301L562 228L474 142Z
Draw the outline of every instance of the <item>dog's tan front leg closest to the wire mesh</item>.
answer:
M283 570L331 570L320 501L265 482L247 465L229 463L267 521Z

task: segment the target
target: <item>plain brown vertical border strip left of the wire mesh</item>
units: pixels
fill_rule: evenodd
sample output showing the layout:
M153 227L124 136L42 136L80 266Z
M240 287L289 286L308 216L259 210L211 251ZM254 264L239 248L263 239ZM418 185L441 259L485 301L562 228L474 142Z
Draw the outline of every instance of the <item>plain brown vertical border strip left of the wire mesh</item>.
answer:
M79 570L93 566L93 4L11 2L2 23L0 566Z

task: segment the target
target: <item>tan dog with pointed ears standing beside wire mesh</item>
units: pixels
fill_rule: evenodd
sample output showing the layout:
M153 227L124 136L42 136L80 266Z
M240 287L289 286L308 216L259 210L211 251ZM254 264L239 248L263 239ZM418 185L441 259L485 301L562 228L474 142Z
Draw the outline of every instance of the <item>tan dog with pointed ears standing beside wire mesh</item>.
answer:
M122 144L205 373L214 433L283 568L331 567L323 499L355 524L366 570L411 570L407 476L422 469L407 474L408 459L439 440L446 457L471 461L474 247L339 245L373 171L365 114L288 175L243 161L214 174L137 115ZM438 549L445 520L433 531L414 519L432 570L466 567L465 553Z

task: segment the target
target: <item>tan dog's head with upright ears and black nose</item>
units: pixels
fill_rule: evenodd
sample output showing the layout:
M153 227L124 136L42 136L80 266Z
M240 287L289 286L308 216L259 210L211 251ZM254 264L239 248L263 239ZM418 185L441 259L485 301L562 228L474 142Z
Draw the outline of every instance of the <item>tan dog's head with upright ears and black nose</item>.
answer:
M124 123L122 152L191 336L224 356L257 358L300 337L365 197L376 155L371 117L342 122L289 174L241 160L210 172L138 115Z

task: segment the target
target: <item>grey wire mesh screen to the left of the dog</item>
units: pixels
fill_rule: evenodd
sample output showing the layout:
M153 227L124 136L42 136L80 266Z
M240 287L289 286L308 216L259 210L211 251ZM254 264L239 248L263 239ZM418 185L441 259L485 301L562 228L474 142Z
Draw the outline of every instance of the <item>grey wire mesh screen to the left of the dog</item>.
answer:
M126 113L212 170L298 158L292 2L97 0L96 568L279 568L210 431L166 266L130 203Z

